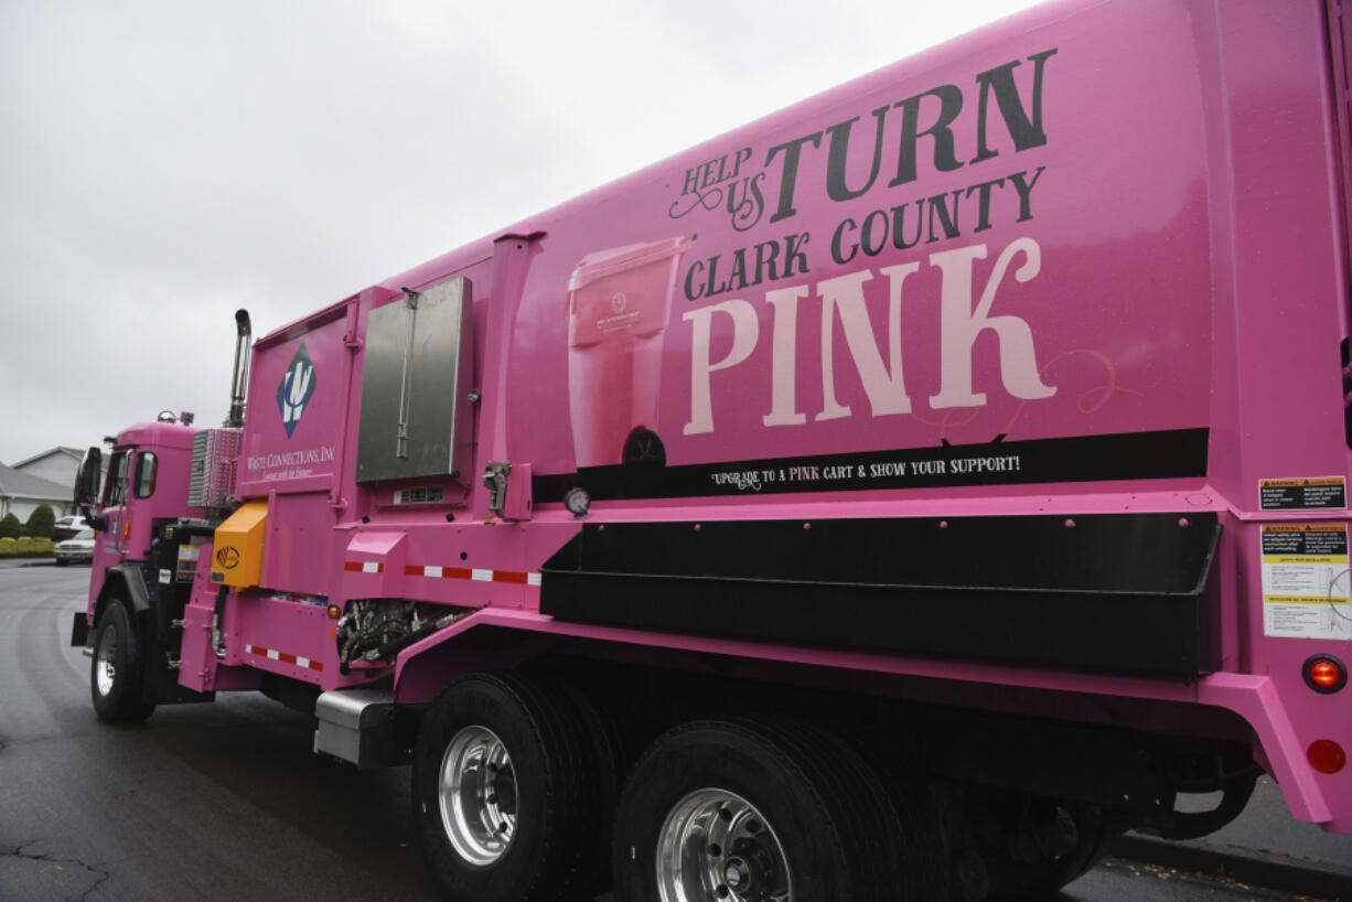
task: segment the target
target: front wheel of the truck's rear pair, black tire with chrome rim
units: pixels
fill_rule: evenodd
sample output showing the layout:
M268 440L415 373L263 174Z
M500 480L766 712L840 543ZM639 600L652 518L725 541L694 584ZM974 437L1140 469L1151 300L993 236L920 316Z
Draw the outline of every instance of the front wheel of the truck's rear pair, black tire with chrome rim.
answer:
M604 888L618 776L602 733L580 696L541 676L473 673L441 694L418 733L412 805L445 898L571 901Z

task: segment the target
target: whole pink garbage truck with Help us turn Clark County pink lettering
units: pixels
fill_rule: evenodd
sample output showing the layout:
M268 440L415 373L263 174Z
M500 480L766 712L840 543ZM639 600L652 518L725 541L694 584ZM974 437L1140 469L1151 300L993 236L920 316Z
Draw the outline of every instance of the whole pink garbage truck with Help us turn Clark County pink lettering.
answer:
M224 426L81 475L97 715L411 763L465 902L1017 898L1263 772L1352 830L1348 49L1052 3L241 314Z

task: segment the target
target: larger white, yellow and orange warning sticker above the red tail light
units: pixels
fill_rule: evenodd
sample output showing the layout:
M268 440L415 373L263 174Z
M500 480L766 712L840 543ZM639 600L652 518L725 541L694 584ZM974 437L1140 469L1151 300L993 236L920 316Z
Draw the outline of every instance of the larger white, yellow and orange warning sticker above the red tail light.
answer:
M1263 634L1352 641L1345 523L1263 527Z

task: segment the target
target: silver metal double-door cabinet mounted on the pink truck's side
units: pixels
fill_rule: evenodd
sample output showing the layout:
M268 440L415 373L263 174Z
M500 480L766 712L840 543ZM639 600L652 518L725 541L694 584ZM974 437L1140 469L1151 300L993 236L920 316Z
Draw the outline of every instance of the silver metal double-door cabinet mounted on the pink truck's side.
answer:
M469 472L473 335L468 279L366 315L358 483Z

